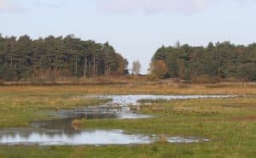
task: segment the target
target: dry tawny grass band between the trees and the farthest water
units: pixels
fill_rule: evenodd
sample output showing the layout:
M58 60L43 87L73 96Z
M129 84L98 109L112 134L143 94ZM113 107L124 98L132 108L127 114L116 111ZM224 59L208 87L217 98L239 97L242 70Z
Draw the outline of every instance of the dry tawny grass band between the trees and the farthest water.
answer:
M255 95L254 83L229 84L116 84L116 85L62 85L62 86L2 86L0 94L234 94Z

